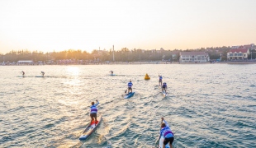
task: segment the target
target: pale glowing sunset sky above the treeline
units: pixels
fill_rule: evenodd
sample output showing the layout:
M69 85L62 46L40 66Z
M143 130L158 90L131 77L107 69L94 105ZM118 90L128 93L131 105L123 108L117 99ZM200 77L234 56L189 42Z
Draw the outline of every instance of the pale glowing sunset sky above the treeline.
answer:
M0 53L256 44L256 0L0 0Z

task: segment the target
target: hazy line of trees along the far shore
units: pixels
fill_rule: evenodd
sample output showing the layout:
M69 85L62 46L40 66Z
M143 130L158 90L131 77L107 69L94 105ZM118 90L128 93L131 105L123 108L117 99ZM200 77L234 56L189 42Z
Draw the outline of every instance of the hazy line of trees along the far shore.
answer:
M172 62L178 62L179 53L183 51L197 51L206 52L209 54L210 59L227 60L227 53L230 51L230 47L211 47L201 49L174 49L174 50L143 50L143 49L127 49L122 48L120 50L97 50L94 49L92 53L82 51L80 49L69 49L60 52L43 53L41 51L29 51L27 49L21 49L18 51L12 50L9 53L0 53L0 62L17 62L19 60L32 60L49 61L49 60L88 60L88 61L116 61L116 62L137 62L137 61L159 61L166 60ZM114 54L114 57L113 57ZM255 59L255 54L252 58Z

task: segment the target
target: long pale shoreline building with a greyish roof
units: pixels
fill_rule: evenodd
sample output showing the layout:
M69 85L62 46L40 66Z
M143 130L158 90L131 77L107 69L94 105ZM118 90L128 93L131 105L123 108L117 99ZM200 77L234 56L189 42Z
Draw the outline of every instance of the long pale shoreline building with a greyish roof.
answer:
M205 52L181 52L179 62L209 62L210 57Z

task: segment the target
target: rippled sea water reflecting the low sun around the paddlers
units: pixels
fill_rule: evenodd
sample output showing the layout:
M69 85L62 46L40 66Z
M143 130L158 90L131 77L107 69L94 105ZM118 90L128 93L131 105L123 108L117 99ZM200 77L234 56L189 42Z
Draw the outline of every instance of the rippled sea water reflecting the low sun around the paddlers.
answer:
M26 77L18 77L21 71ZM36 77L40 71L45 78ZM256 147L254 64L9 66L0 72L0 147L153 147L161 117L174 132L174 147ZM158 73L168 97L160 93ZM130 80L135 96L123 99ZM79 141L96 99L102 123Z

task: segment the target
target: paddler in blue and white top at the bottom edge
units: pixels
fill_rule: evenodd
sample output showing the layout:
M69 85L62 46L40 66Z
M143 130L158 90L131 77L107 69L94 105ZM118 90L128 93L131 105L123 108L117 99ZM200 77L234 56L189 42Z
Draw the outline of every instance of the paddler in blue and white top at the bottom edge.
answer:
M174 137L173 137L173 132L171 130L171 128L169 127L168 123L164 120L164 118L162 119L162 123L161 123L161 130L160 130L160 137L164 136L164 146L163 148L165 148L165 145L167 145L169 143L170 148L173 148L172 144L174 141ZM164 121L164 123L163 123Z

